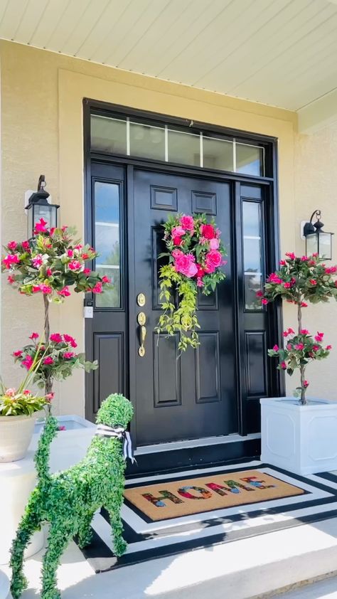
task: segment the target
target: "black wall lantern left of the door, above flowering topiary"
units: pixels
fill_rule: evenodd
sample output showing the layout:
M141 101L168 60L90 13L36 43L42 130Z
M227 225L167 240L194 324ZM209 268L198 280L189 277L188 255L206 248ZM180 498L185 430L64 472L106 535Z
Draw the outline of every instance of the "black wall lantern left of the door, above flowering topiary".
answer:
M28 239L34 237L36 223L43 218L48 223L48 228L58 226L58 204L48 203L48 191L45 191L46 180L44 175L38 179L38 191L31 195L26 206L28 223Z

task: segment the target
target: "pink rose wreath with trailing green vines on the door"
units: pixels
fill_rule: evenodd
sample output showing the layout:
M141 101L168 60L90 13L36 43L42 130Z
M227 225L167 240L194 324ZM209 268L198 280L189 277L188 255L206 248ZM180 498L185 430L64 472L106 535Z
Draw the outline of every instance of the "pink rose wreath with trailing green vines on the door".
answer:
M178 332L178 349L185 351L188 346L196 348L199 344L198 289L209 295L225 279L220 270L226 264L225 248L220 240L221 231L214 221L207 222L205 214L169 216L164 231L168 251L160 258L168 257L169 264L159 271L164 314L159 317L156 331L168 335ZM178 307L173 300L174 290L178 293Z

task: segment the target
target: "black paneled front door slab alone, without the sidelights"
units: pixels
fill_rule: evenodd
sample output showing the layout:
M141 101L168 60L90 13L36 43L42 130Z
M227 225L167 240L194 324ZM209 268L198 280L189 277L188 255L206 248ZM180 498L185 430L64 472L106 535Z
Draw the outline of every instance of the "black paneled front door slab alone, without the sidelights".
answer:
M228 435L237 431L233 282L230 240L231 186L190 176L134 171L134 280L130 328L138 329L135 359L137 442ZM200 346L178 352L178 335L155 332L161 311L157 256L164 250L162 224L171 213L214 216L228 250L227 278L210 296L200 293ZM137 295L146 303L137 307ZM145 354L138 354L137 314L146 316ZM136 318L135 318L136 316Z

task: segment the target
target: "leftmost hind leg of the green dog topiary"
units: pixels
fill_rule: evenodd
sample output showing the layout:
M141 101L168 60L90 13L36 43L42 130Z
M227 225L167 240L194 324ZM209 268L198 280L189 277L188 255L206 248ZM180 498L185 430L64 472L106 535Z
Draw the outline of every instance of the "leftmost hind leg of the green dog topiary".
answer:
M13 599L18 599L23 593L23 590L27 588L26 577L23 574L23 553L28 545L28 541L34 531L38 530L40 521L35 511L26 509L26 513L23 514L18 530L16 531L16 538L11 546L11 566L12 578L11 578L11 594Z

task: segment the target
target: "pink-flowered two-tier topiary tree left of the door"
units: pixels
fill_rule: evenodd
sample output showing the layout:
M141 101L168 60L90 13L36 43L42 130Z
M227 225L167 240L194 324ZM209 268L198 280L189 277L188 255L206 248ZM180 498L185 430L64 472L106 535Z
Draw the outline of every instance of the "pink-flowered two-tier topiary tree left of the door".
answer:
M19 293L28 296L40 294L43 297L43 352L46 355L36 373L36 380L40 383L43 381L46 394L50 394L54 378L65 378L76 366L85 369L97 367L97 364L85 362L82 356L73 354L73 337L70 335L55 333L50 336L50 302L63 302L70 296L70 288L76 293L102 293L110 281L87 266L97 257L97 253L90 245L82 245L75 239L74 228L48 228L48 223L41 218L34 233L35 236L29 240L7 243L1 267L3 272L8 273L9 284ZM14 352L14 357L28 369L35 350L35 345L31 344Z

